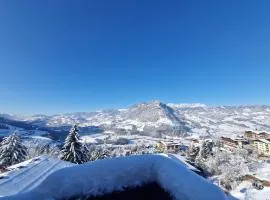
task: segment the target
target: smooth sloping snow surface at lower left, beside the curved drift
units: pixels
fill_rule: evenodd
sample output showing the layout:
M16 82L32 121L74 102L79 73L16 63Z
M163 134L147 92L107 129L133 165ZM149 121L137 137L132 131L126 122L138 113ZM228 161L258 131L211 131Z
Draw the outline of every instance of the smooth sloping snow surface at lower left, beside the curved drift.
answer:
M42 156L8 168L0 174L0 197L27 192L38 186L51 173L74 164Z

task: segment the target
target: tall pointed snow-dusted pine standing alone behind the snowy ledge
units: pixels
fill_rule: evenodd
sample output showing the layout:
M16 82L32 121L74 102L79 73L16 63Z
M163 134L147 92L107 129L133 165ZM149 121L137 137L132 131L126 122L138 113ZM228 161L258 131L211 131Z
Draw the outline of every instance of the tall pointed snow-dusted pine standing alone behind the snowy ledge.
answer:
M78 126L74 125L68 134L63 149L61 151L61 159L76 164L87 162L84 145L79 141Z

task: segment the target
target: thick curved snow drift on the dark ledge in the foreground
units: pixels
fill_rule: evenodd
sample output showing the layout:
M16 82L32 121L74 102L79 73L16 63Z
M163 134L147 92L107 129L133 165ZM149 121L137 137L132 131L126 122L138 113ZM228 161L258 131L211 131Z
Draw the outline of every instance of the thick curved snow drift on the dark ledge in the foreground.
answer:
M68 199L121 191L148 182L157 182L177 200L227 199L217 186L162 155L114 158L64 168L28 193L0 199Z

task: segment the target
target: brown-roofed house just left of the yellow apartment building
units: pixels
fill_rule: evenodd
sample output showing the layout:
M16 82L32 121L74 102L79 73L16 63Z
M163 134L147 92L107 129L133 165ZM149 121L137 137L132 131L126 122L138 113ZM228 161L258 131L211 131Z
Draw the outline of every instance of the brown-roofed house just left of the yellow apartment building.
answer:
M237 148L243 148L248 142L244 138L221 137L221 143L223 148L234 152Z

